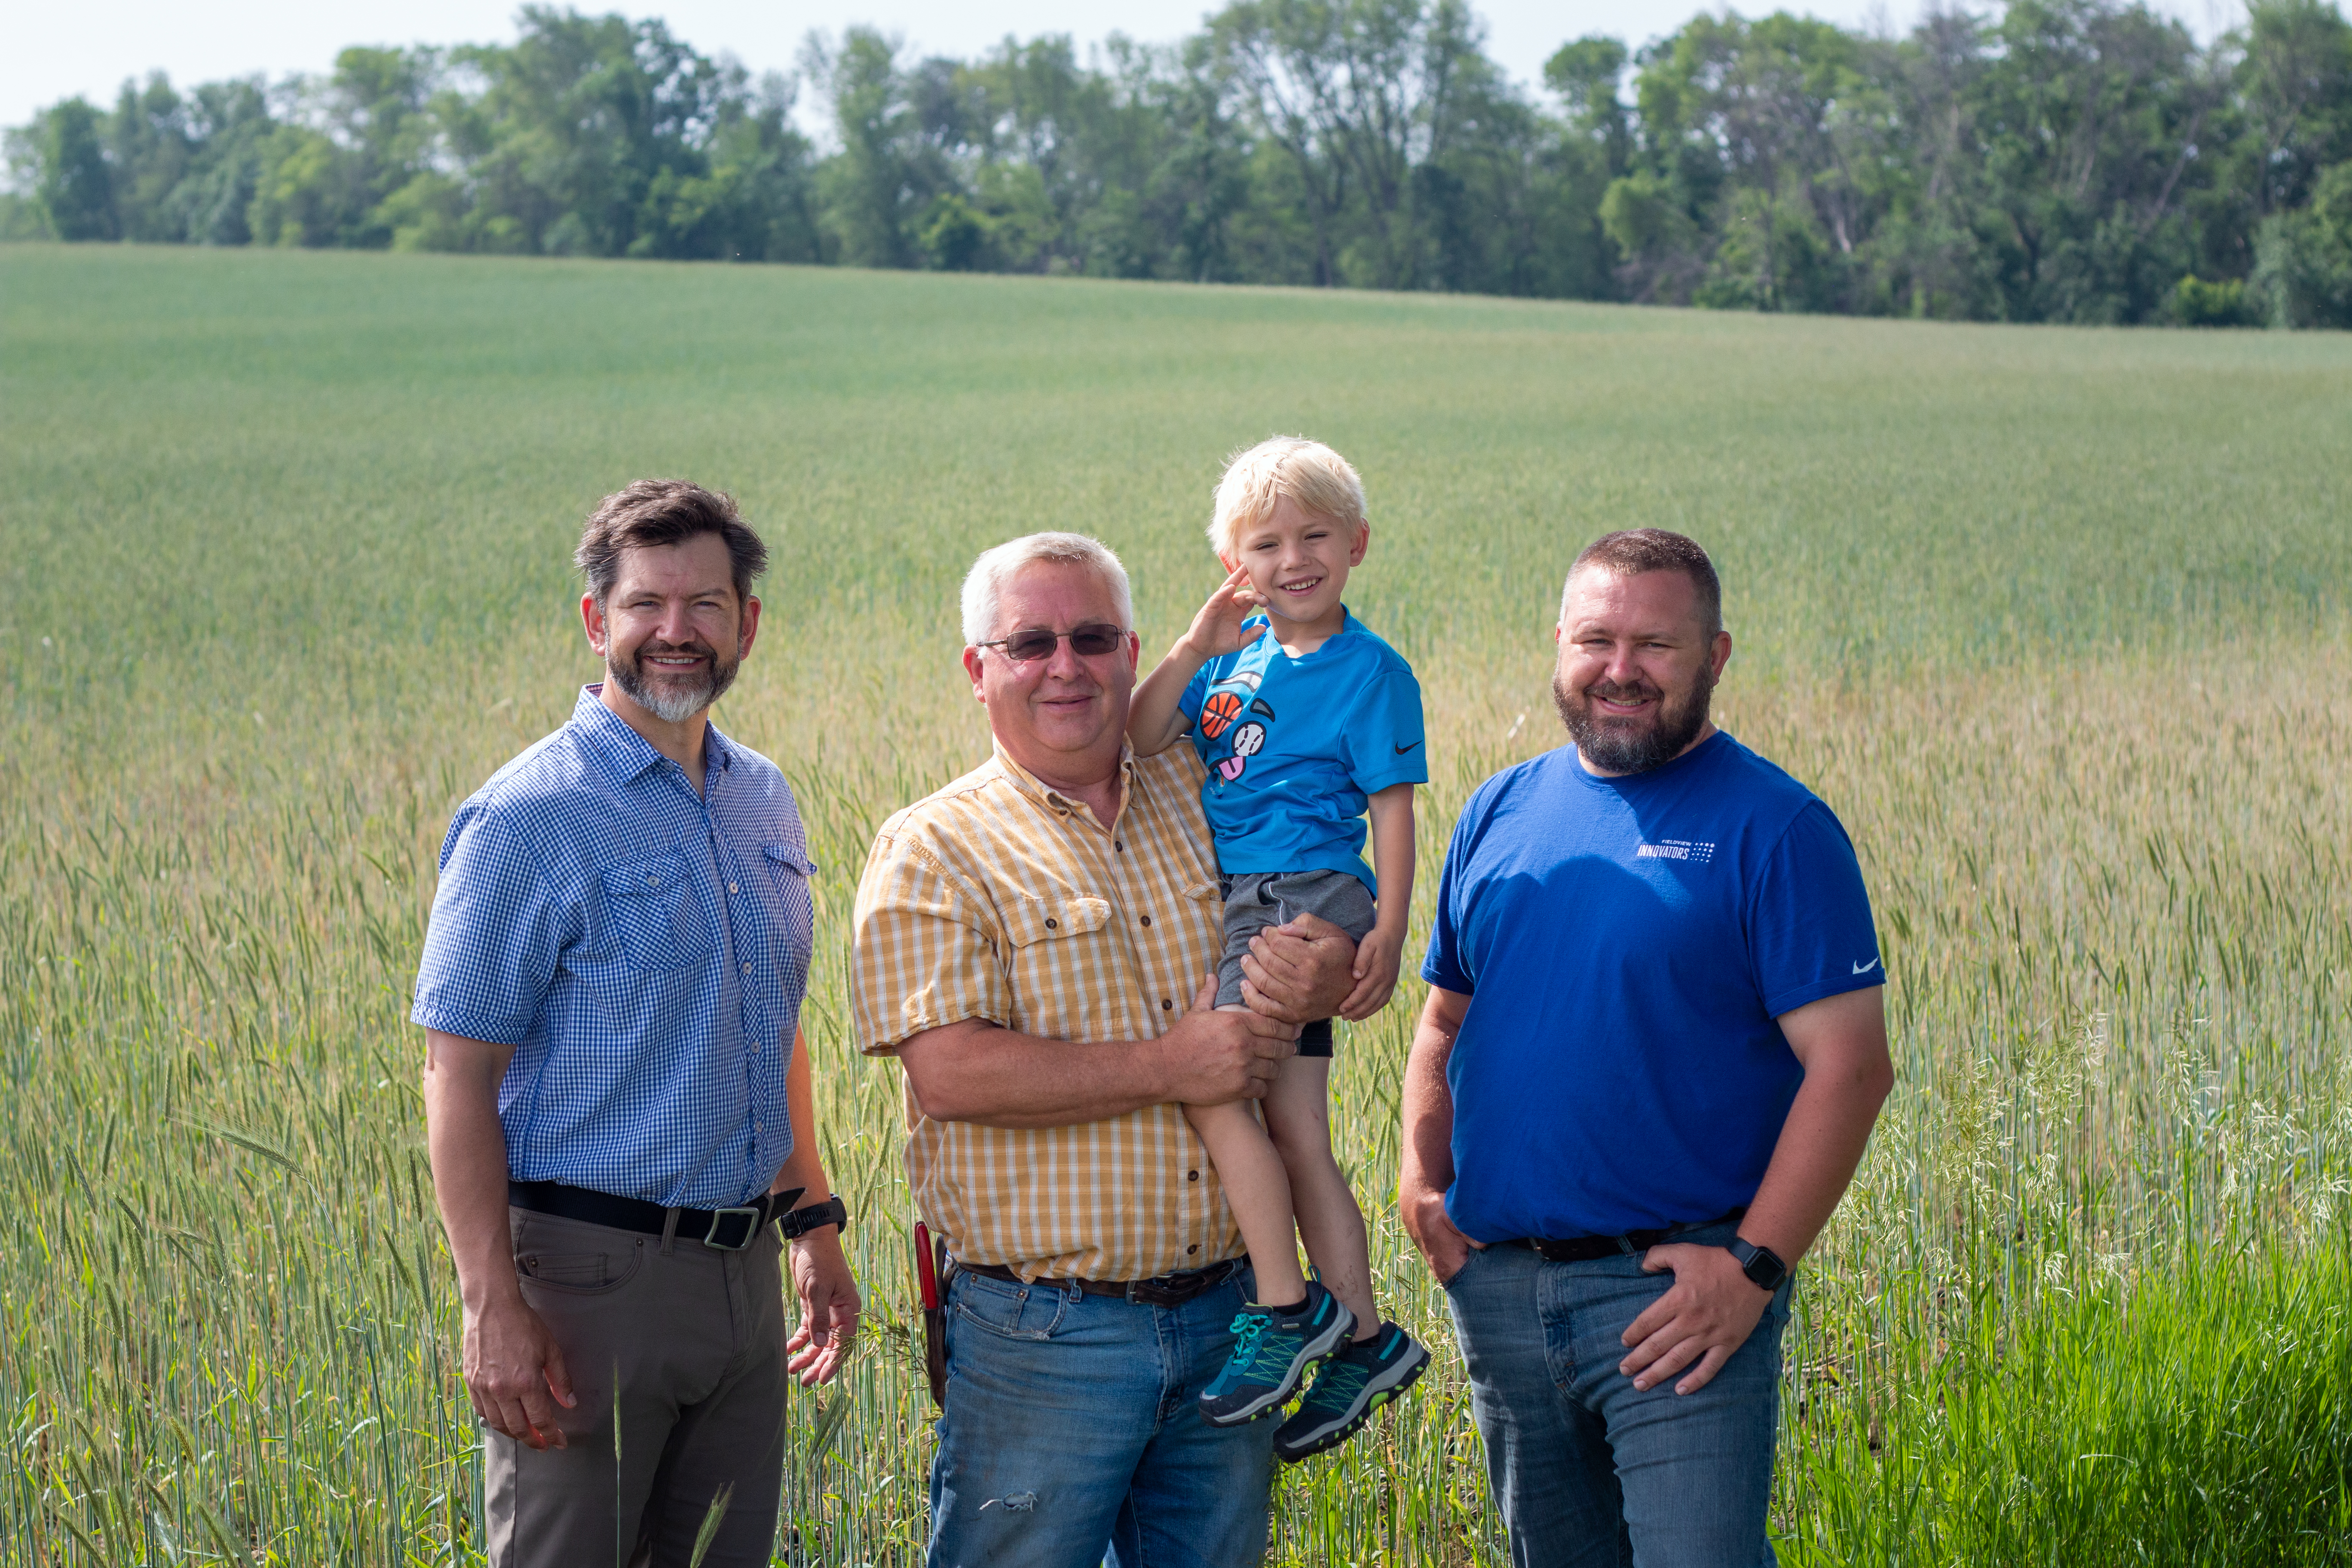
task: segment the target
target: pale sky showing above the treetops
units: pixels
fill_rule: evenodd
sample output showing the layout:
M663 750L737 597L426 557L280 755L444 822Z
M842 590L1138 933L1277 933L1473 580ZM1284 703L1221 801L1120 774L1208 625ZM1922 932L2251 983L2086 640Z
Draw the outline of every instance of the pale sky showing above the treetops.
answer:
M1919 0L1748 0L1743 14L1811 12L1856 26L1886 19L1907 28ZM2241 0L2152 0L2159 12L2213 38L2244 14ZM1628 45L1672 33L1700 0L1472 0L1486 21L1486 54L1519 82L1541 80L1562 42L1611 33ZM1202 0L654 0L579 2L583 12L621 9L663 16L703 54L734 54L753 73L788 71L811 31L840 33L873 24L924 54L971 56L1007 33L1070 33L1080 47L1122 31L1143 42L1183 38L1200 26ZM24 125L33 110L73 94L113 103L122 78L167 71L176 85L223 75L327 71L346 45L508 42L517 7L508 0L19 0L0 24L0 125Z

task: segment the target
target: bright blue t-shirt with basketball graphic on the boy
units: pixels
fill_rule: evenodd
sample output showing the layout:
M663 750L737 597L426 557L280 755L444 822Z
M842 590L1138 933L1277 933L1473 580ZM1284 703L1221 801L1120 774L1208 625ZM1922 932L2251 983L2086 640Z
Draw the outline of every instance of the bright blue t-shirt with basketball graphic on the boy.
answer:
M1388 785L1428 783L1421 682L1392 646L1348 616L1305 658L1282 651L1272 625L1200 668L1178 705L1209 764L1200 788L1221 872L1329 870L1362 877L1364 809Z

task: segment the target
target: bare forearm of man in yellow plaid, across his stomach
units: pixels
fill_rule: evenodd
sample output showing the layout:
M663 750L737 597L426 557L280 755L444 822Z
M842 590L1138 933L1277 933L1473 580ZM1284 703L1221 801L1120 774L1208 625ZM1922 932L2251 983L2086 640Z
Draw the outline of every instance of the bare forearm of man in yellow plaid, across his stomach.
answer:
M1150 1039L1077 1044L967 1020L924 1030L898 1060L934 1121L1075 1126L1176 1098Z

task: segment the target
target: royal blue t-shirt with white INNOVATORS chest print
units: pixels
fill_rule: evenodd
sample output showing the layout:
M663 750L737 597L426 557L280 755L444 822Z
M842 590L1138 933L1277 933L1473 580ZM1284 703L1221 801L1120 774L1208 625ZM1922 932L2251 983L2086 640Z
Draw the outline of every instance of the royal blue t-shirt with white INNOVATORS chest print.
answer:
M1776 1018L1884 973L1846 830L1729 733L1628 778L1573 745L1496 773L1421 966L1470 997L1446 1215L1616 1237L1752 1201L1804 1079Z

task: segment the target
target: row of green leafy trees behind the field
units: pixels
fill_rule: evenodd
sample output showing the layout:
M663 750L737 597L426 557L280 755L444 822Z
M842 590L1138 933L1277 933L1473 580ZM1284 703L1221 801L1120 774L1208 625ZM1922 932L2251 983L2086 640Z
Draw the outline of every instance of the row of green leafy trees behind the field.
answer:
M802 92L823 143L797 129ZM753 78L661 21L322 78L125 82L7 132L0 237L1082 273L2006 322L2352 327L2352 26L2256 0L1731 12L1541 89L1461 0L1235 0L1174 45Z

